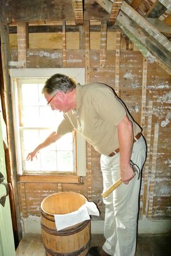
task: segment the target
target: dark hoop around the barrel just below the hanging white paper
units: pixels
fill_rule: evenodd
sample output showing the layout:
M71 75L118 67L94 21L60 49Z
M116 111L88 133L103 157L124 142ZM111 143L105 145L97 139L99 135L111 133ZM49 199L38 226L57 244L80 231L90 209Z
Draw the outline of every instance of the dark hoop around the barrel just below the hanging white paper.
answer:
M45 230L45 232L47 232L50 235L70 236L71 234L75 234L75 233L80 232L81 230L83 230L89 224L89 222L90 222L90 220L86 220L80 226L78 226L77 228L71 228L70 230L61 230L61 231L52 230L48 227L45 227L45 225L43 225L43 223L41 223L41 228L43 230Z

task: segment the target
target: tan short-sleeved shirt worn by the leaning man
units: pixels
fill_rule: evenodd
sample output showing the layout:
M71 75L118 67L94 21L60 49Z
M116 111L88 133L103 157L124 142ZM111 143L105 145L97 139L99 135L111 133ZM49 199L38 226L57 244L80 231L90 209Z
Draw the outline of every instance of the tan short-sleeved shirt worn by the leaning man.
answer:
M76 100L77 109L64 113L57 132L65 134L76 129L100 154L108 155L119 147L117 125L126 114L133 123L133 136L141 131L121 100L105 84L77 84Z

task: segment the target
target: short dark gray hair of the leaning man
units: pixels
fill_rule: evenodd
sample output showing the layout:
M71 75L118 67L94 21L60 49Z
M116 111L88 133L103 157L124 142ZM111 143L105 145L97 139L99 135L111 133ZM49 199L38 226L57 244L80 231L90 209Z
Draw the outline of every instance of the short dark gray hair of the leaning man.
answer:
M75 89L75 81L63 74L55 74L47 79L45 86L42 89L42 93L47 92L52 94L54 92L72 92Z

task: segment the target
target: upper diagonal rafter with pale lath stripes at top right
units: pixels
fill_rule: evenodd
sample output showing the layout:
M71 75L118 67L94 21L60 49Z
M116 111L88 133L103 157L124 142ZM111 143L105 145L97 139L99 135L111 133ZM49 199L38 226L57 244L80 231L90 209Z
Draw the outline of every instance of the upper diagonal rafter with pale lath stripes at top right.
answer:
M141 28L143 28L149 35L155 38L158 42L160 42L163 47L165 47L169 52L171 52L171 42L158 31L158 29L154 28L150 22L144 19L142 15L140 15L136 10L134 10L129 4L125 1L121 6L121 10L128 15L132 20L134 20Z

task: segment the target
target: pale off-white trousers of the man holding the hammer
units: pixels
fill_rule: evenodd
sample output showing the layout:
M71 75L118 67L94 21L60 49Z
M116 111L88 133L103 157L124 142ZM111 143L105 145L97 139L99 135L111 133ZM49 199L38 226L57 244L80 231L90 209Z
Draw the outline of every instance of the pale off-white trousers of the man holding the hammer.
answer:
M146 157L143 136L133 144L131 160L140 170ZM110 187L119 175L119 153L113 157L101 155L103 191ZM105 244L103 250L112 256L134 256L137 242L138 200L140 179L137 175L128 185L121 184L103 199L105 204Z

